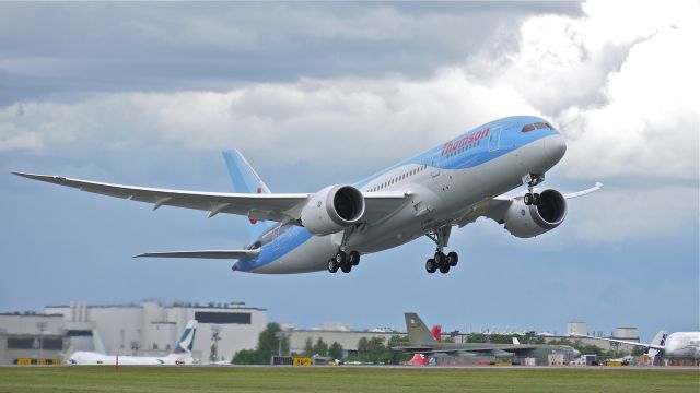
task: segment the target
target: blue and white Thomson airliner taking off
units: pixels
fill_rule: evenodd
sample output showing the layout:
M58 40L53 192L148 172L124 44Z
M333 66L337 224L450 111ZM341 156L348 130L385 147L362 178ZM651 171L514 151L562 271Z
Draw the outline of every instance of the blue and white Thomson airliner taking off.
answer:
M233 271L288 274L349 273L369 254L422 236L435 242L428 273L450 272L459 258L445 253L450 234L479 217L520 238L541 235L567 216L567 200L602 188L562 194L536 189L563 157L563 136L532 116L491 121L369 176L316 193L271 193L238 151L223 152L235 193L120 186L59 176L13 172L102 195L153 205L245 215L253 241L241 250L147 252L138 257L236 260ZM526 186L523 195L505 192Z

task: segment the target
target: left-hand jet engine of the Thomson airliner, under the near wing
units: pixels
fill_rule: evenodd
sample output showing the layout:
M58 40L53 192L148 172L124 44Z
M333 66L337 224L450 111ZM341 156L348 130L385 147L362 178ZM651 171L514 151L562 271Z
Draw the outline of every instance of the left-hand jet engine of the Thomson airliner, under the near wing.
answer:
M364 214L364 196L352 186L329 186L316 192L302 210L302 225L312 234L335 234Z

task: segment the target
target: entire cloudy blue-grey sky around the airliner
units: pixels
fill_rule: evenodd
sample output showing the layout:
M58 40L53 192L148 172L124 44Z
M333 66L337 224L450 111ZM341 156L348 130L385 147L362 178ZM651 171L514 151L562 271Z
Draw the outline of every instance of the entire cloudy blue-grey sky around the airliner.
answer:
M299 327L564 333L700 329L692 1L0 3L0 312L47 305L245 301ZM565 222L518 239L453 230L351 274L232 273L145 251L238 248L245 218L103 198L12 170L231 191L238 148L273 192L348 183L481 123L547 118ZM521 192L521 191L517 191Z

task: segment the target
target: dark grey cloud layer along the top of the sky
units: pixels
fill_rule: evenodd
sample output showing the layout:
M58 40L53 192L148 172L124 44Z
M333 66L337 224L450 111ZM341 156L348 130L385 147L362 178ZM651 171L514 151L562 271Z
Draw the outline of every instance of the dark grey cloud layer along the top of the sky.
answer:
M300 76L427 76L572 2L3 3L0 105L57 94L226 90ZM27 23L32 21L32 23ZM492 40L493 43L489 43Z

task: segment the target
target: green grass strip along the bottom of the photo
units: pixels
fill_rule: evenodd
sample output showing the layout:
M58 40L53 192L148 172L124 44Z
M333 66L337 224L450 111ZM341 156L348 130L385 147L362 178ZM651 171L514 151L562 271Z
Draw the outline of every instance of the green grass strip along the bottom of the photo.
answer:
M0 367L0 392L700 392L700 370Z

